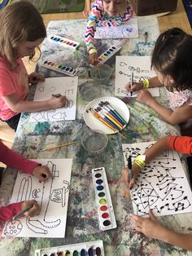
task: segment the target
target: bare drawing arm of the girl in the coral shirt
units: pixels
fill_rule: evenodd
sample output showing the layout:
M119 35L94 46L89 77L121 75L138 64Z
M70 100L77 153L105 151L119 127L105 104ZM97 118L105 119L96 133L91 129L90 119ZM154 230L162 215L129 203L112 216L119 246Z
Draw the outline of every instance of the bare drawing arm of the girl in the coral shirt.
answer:
M58 95L57 97L52 97L44 101L28 101L18 99L17 95L15 94L2 96L2 99L7 104L7 106L11 108L11 110L15 113L30 113L48 110L51 108L62 108L67 100L65 96Z

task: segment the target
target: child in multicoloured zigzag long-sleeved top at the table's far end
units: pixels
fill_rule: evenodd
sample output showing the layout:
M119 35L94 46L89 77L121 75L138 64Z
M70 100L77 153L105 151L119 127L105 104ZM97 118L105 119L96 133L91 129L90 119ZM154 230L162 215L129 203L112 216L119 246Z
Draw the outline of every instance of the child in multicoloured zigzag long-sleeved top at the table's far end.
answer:
M96 27L111 27L123 24L133 15L126 0L95 0L85 29L85 44L89 52L89 62L98 64L98 51L94 45Z

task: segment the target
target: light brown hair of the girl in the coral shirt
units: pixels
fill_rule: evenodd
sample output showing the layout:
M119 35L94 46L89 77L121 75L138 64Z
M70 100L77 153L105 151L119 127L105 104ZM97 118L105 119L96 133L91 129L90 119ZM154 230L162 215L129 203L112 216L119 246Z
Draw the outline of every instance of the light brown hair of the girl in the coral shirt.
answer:
M0 55L16 67L16 47L26 41L46 38L40 13L27 1L13 2L0 11ZM33 55L29 57L31 60Z

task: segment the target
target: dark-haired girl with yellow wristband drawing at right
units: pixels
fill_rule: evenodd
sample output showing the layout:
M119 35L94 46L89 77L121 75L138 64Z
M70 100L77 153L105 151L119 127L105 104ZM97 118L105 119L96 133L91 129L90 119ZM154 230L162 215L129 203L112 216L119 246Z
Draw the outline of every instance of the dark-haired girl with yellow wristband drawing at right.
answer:
M127 90L140 90L137 100L147 104L160 117L172 125L185 123L181 129L192 125L192 36L181 29L168 29L159 35L152 54L151 67L157 77L127 84ZM165 86L168 91L170 108L156 102L149 87ZM190 130L191 131L191 130ZM183 133L183 135L185 135Z

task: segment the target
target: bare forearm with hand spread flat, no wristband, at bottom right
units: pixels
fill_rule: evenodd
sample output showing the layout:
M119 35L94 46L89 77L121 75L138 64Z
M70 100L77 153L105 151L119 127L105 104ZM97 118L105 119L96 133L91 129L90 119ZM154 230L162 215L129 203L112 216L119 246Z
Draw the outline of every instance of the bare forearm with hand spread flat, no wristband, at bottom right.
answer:
M192 235L180 234L173 232L162 226L155 218L150 210L150 218L142 218L135 214L130 214L130 217L135 223L137 232L142 232L145 236L159 239L168 244L178 246L183 249L192 250Z

